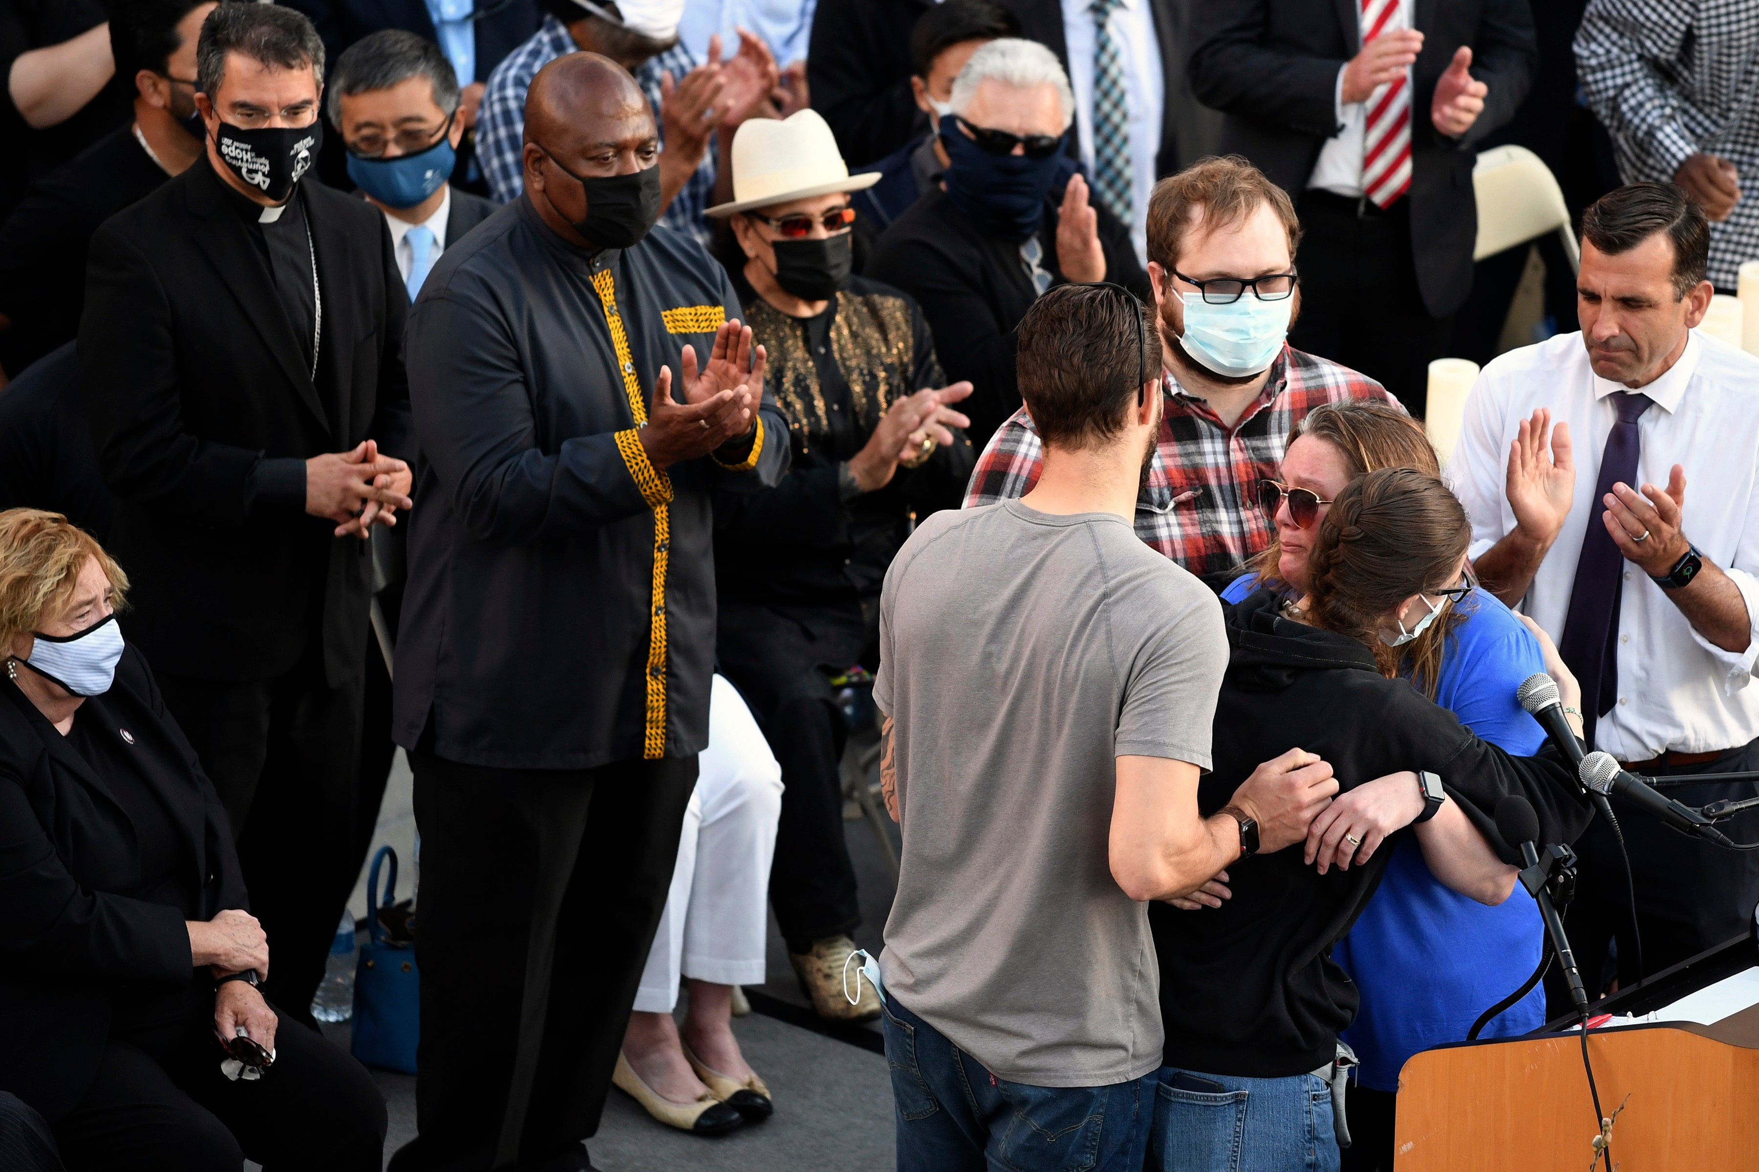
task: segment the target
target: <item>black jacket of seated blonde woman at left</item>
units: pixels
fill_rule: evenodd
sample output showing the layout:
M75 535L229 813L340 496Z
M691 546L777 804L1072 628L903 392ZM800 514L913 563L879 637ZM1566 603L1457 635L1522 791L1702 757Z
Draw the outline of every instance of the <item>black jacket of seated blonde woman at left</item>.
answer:
M120 894L141 880L142 845L116 794L142 778L99 777L18 685L0 678L0 1089L56 1119L90 1086L123 986L209 977L190 965L181 908ZM123 650L111 691L74 720L127 729L183 838L199 915L250 910L225 808L141 652Z

